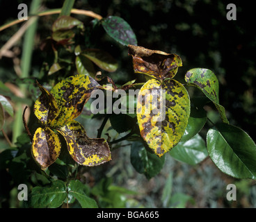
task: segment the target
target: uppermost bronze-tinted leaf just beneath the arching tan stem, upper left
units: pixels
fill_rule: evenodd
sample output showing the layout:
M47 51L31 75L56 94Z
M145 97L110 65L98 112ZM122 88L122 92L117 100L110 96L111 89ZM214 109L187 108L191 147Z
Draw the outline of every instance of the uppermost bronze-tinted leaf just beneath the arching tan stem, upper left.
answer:
M59 31L59 30L67 30L71 29L74 26L81 26L83 23L79 21L78 19L75 19L73 17L63 15L61 17L58 17L54 24L51 27L51 31Z

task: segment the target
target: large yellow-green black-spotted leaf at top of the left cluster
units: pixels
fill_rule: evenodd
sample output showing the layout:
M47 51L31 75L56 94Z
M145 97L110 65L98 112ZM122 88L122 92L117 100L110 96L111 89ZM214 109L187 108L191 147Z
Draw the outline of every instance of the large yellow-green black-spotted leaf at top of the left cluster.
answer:
M50 126L60 128L77 118L97 86L99 84L96 80L85 75L70 76L56 84L50 93L56 99L60 113Z

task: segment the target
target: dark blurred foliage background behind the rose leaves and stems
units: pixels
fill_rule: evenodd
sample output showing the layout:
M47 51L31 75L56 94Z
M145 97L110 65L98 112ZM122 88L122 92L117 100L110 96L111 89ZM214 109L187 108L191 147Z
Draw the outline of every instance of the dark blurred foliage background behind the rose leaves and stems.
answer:
M17 6L31 1L0 1L0 25L17 19ZM237 20L226 19L228 3L237 6ZM63 1L45 0L42 10L61 8ZM256 67L256 31L253 28L253 7L246 1L146 1L146 0L77 0L74 8L92 10L102 17L116 15L127 21L138 40L138 45L147 49L156 49L168 53L177 53L183 61L177 77L184 83L186 71L194 67L204 67L214 71L220 82L220 103L227 110L227 118L231 124L241 127L256 141L254 127L256 125L256 104L254 99ZM73 16L73 15L72 15ZM50 35L51 24L58 15L40 17L35 35L33 58L29 76L38 78L42 70L42 61L49 62L53 56L47 56L40 50L40 44ZM85 24L92 18L74 15ZM0 46L12 37L21 25L17 24L0 33ZM119 68L109 74L115 83L126 83L135 78L131 66L131 58L127 55L127 47L120 46L103 30L85 35L84 44L90 48L104 49L118 58ZM3 56L0 60L0 78L3 83L17 84L19 65L22 54L22 39L12 48L15 56ZM136 77L138 78L138 77ZM16 90L14 92L19 92ZM191 94L199 94L196 89ZM17 94L17 96L19 96ZM15 108L15 101L13 101ZM31 103L29 98L24 102ZM213 107L208 108L209 111ZM211 112L209 112L211 113ZM211 119L218 121L212 112ZM7 119L6 132L12 138L13 119ZM98 125L86 120L86 130L90 136ZM202 132L203 133L203 132ZM6 144L1 135L0 152ZM84 173L91 183L102 177L113 178L113 183L138 191L136 201L143 207L256 207L256 187L252 180L236 180L225 176L211 160L191 167L173 160L169 155L159 176L147 180L145 176L134 171L129 162L129 148L119 148L113 153L113 161L103 167L95 167ZM171 172L171 173L170 173ZM5 178L1 178L2 181ZM226 186L237 185L237 201L227 201ZM15 191L14 191L15 192ZM163 198L164 192L169 194L168 200ZM171 194L171 195L170 195ZM132 196L132 194L130 194ZM15 195L14 195L15 196ZM121 201L121 200L120 200ZM182 202L183 201L183 202ZM128 203L128 202L127 202ZM136 202L137 203L137 202ZM133 203L134 204L134 203ZM180 205L178 205L180 204ZM129 206L129 205L128 205ZM13 207L16 207L15 203Z

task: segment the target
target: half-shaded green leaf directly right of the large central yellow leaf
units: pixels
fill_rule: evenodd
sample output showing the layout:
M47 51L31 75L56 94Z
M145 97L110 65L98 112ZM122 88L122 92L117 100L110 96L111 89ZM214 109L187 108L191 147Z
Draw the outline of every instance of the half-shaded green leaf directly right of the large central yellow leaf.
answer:
M180 142L188 141L199 133L203 126L205 126L207 121L207 113L203 106L205 105L206 101L209 101L206 97L191 99L191 113L188 125L186 125L185 133L182 136L182 139L180 139Z

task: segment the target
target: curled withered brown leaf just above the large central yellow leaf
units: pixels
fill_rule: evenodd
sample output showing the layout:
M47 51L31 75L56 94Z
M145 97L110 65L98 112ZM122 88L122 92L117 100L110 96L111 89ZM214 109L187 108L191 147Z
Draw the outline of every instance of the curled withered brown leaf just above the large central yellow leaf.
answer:
M128 45L128 48L136 73L163 80L173 78L177 73L178 67L182 66L182 59L176 54L145 49L131 44Z

